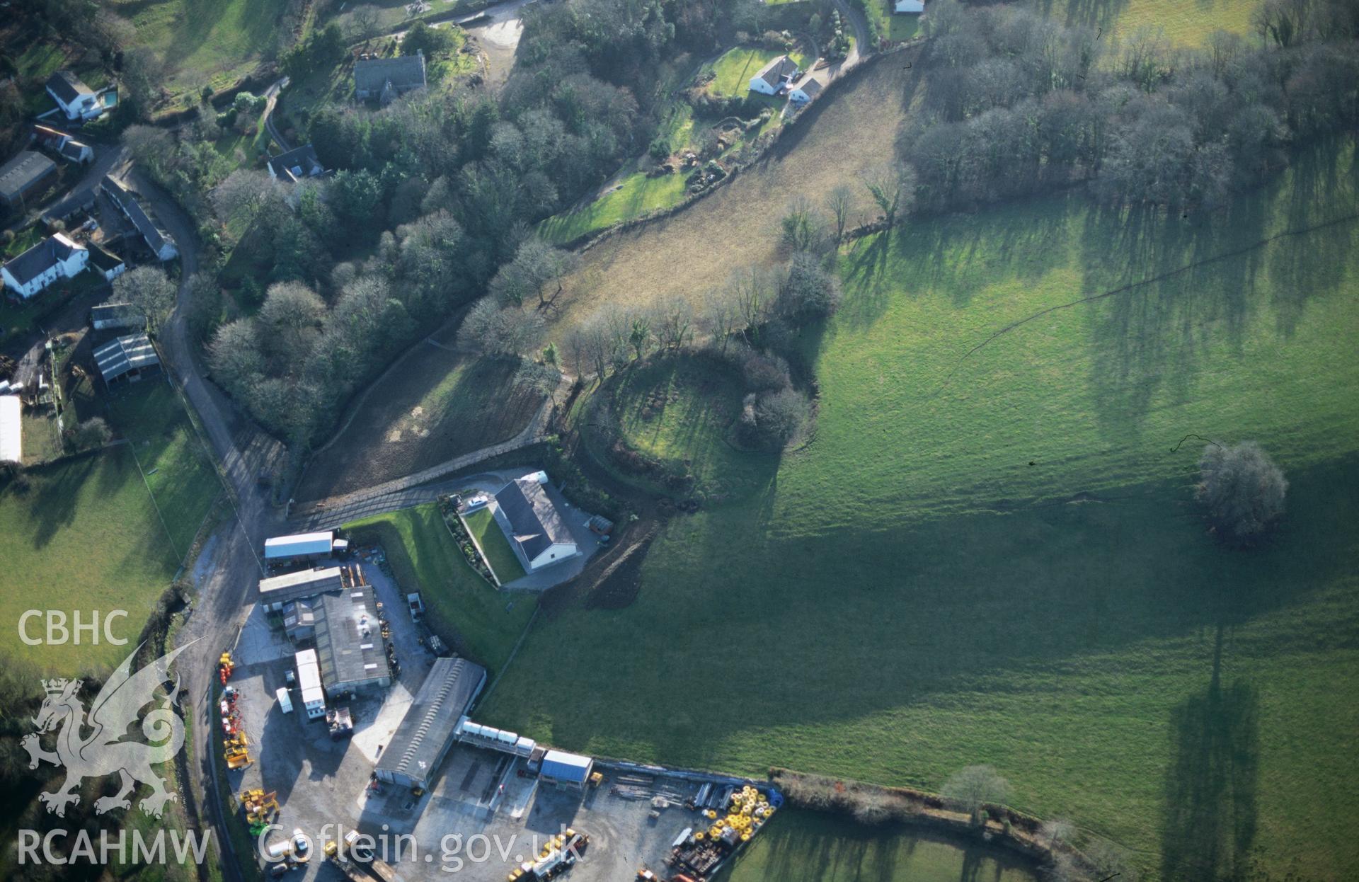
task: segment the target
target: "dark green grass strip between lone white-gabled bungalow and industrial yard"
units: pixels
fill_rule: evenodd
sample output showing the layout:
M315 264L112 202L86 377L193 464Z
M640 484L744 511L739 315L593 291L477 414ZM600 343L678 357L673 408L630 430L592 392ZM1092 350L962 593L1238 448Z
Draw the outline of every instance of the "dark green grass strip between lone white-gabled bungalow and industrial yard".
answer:
M347 523L357 542L381 542L402 591L420 591L435 632L497 671L533 616L535 597L496 591L453 541L434 503Z

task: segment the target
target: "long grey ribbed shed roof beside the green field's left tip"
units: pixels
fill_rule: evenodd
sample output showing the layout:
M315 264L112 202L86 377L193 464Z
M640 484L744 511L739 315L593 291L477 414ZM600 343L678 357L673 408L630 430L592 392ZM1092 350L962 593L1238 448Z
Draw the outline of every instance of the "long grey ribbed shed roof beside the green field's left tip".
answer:
M463 658L436 659L378 761L379 771L424 786L454 737L458 719L481 692L487 669Z

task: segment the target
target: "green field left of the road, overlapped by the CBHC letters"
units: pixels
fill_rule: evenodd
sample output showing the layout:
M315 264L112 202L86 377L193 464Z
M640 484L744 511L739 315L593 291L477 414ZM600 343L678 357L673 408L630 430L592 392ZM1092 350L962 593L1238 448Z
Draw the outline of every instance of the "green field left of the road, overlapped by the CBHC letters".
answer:
M18 622L33 607L68 616L125 609L130 614L116 629L136 640L220 493L163 381L116 395L105 416L130 444L30 469L27 489L14 481L0 488L0 620ZM4 658L64 675L102 671L126 654L106 643L23 646L12 629L0 644Z

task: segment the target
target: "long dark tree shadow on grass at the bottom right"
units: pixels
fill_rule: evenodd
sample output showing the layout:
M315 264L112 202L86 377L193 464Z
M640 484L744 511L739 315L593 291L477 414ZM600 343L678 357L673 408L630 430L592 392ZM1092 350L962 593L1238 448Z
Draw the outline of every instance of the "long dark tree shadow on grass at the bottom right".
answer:
M1256 836L1260 696L1245 681L1222 686L1222 640L1219 625L1207 689L1170 712L1161 830L1167 881L1239 878Z

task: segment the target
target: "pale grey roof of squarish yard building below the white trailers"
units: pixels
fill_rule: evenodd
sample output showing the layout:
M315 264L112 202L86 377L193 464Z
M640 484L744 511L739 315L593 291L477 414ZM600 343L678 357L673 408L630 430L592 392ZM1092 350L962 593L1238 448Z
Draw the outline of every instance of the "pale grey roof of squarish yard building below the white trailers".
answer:
M321 684L328 692L391 677L378 624L378 601L371 586L322 594L313 612Z

